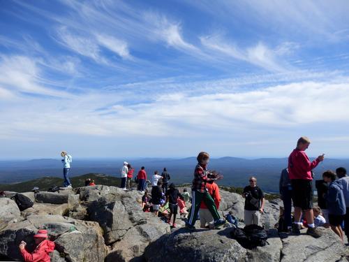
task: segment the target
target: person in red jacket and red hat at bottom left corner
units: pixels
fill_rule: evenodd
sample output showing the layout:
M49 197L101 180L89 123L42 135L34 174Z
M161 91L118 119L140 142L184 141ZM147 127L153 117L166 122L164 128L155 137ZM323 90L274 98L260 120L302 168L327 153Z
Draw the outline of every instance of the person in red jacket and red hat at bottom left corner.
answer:
M36 235L34 235L34 241L36 249L31 254L27 252L25 246L26 242L20 242L20 252L26 262L50 262L50 253L54 251L54 242L48 240L47 231L40 229Z

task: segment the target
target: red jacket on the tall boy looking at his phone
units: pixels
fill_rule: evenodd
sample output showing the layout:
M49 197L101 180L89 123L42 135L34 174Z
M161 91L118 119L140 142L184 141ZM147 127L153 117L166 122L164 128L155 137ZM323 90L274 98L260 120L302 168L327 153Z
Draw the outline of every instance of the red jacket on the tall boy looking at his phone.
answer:
M318 166L318 163L320 163L318 159L311 162L304 151L296 148L288 157L288 175L290 180L313 180L311 170Z

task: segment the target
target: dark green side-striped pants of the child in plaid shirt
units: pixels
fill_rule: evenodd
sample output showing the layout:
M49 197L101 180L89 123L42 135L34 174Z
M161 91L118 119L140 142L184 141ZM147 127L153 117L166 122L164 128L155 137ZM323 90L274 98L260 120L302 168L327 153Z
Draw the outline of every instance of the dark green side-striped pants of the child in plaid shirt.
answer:
M191 211L188 214L188 224L194 226L196 219L198 218L198 212L200 209L201 201L204 201L209 212L211 212L212 217L214 217L214 221L220 219L216 204L214 203L214 198L208 192L201 193L200 191L192 191L192 205Z

